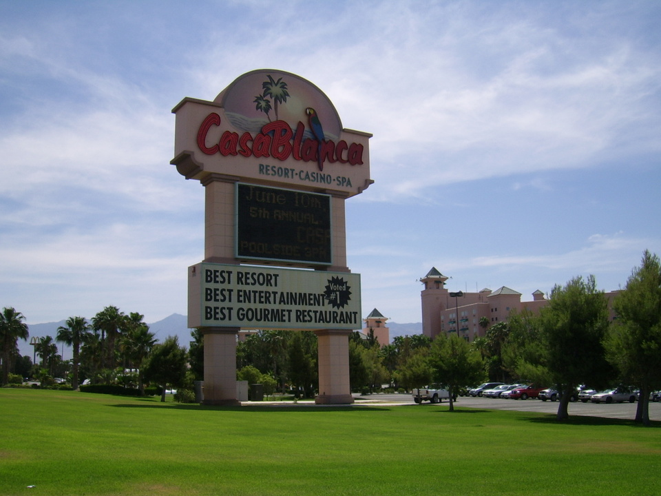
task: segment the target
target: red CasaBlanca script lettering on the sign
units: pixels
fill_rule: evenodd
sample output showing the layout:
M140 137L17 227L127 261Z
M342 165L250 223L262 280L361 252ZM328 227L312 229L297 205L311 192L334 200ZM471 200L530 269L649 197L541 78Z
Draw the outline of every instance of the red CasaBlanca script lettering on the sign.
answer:
M202 121L198 129L197 143L202 153L207 155L221 154L241 155L244 157L273 157L280 161L293 158L296 161L317 162L319 170L324 169L324 162L350 165L363 164L363 145L351 143L344 140L337 143L331 140L323 140L321 144L317 140L303 138L305 126L299 122L294 132L285 121L273 121L262 127L262 132L253 136L244 132L239 136L236 132L229 130L223 132L218 143L207 146L207 134L211 127L220 125L220 116L211 112ZM317 156L320 154L321 156Z

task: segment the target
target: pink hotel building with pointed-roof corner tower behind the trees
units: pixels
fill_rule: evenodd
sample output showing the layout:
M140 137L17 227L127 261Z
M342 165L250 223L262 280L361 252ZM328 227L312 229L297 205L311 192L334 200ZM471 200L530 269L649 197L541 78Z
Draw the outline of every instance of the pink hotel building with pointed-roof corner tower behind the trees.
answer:
M496 291L485 288L477 293L450 293L445 289L446 280L436 267L420 280L425 286L421 291L422 333L432 339L439 333L458 332L465 340L472 341L483 336L496 322L506 321L512 310L538 312L548 304L542 291L532 293L532 301L522 302L521 293L506 286ZM617 294L618 291L606 293L609 307Z

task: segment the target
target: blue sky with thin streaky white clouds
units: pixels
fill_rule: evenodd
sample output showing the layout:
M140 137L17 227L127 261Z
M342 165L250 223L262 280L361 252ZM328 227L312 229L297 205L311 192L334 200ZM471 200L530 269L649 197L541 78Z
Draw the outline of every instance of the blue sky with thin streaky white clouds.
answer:
M661 254L661 2L0 0L0 307L187 313L204 188L172 108L298 74L373 134L346 200L365 318L420 278L532 300Z

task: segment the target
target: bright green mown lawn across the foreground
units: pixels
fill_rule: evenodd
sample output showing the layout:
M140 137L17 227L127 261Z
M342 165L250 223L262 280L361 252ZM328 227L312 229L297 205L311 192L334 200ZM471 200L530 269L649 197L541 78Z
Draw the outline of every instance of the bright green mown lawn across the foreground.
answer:
M661 494L660 422L447 410L0 389L0 494Z

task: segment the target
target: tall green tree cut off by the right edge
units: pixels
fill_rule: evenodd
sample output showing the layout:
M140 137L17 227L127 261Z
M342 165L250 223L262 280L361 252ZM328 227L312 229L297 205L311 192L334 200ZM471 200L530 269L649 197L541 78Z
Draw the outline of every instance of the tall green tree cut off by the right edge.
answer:
M661 387L661 262L645 251L613 302L617 320L605 345L622 379L638 386L636 422L649 426L649 393Z

